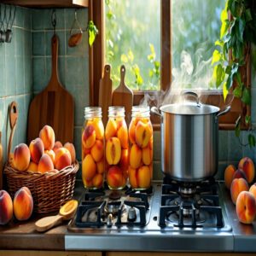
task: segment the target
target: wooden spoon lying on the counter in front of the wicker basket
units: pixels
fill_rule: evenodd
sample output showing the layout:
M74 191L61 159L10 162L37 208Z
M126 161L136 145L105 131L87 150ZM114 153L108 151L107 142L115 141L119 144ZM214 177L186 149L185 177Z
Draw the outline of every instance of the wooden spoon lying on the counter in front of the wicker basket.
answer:
M35 223L36 230L39 232L44 232L49 230L56 225L62 223L62 220L68 220L73 218L75 212L77 211L79 202L76 200L67 201L67 203L61 207L60 212L55 216L49 216L38 219Z

